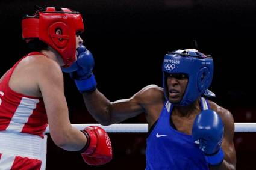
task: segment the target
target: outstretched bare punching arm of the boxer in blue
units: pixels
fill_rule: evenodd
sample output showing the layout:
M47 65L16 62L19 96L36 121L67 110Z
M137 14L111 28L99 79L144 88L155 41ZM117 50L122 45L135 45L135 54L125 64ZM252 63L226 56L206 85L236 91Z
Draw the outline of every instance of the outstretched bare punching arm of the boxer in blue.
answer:
M110 102L98 90L84 93L83 97L90 114L103 125L119 123L142 112L147 114L146 117L150 117L153 112L160 113L158 108L163 105L163 90L156 85L143 88L130 99L121 99L115 102ZM151 120L151 118L149 119Z

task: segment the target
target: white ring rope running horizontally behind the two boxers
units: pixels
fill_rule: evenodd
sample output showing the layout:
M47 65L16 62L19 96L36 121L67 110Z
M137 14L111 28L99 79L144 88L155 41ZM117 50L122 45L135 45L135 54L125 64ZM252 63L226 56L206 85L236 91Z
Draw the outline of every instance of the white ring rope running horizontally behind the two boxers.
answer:
M146 133L148 132L148 124L111 124L110 126L102 126L101 124L72 124L76 129L82 130L88 126L102 127L106 132L130 132L130 133ZM256 132L256 123L235 123L235 132ZM46 129L46 133L49 133L49 127Z

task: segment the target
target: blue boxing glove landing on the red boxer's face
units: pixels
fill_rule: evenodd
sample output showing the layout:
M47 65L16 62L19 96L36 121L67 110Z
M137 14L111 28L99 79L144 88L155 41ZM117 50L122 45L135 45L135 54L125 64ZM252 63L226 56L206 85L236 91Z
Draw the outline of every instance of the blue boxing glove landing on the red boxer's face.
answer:
M70 77L75 80L76 87L80 93L93 91L96 89L96 80L92 73L94 59L92 53L81 45L77 49L77 61L69 68L61 68L63 72L70 73Z

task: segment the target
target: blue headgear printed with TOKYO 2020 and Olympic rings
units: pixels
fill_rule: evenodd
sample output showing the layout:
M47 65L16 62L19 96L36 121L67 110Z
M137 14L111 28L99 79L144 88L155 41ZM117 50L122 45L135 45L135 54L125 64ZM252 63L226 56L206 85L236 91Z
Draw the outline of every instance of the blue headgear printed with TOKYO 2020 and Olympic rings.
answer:
M164 96L167 100L169 100L166 82L168 74L181 73L188 76L189 82L183 99L173 104L189 105L210 86L213 79L213 59L195 49L176 50L164 56L162 71Z

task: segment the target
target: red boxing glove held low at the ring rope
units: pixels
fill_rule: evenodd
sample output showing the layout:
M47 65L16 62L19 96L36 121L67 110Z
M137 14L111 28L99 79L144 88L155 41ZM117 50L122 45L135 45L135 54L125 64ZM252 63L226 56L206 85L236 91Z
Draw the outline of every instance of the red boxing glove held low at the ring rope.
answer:
M110 138L104 129L98 126L86 127L81 132L86 135L87 144L80 151L89 165L103 165L112 159L112 147Z

